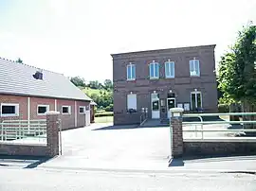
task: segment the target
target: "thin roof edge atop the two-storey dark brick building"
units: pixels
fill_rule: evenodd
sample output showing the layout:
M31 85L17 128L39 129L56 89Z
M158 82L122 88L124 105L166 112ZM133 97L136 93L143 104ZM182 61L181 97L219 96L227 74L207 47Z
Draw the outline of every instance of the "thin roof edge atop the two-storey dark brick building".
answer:
M142 50L142 51L116 53L116 54L111 54L111 56L115 57L115 56L119 56L119 55L137 54L137 53L151 54L151 53L158 53L159 51L160 52L191 51L193 49L215 48L215 46L216 46L216 44L209 44L209 45L184 46L184 47L164 48L164 49L155 49L155 50Z

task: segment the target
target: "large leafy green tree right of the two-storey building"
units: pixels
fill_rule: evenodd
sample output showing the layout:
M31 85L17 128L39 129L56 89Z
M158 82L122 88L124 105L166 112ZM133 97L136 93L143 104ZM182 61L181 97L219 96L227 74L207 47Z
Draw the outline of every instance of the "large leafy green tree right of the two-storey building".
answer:
M221 58L219 68L219 88L224 97L229 102L241 102L244 112L256 112L255 64L256 26L250 23L239 31L236 42Z

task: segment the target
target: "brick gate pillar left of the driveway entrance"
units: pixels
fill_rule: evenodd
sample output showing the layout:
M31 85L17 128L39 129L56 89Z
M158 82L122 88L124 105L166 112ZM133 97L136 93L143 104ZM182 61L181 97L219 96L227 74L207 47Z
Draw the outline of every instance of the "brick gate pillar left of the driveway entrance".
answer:
M46 113L48 156L59 154L59 112Z

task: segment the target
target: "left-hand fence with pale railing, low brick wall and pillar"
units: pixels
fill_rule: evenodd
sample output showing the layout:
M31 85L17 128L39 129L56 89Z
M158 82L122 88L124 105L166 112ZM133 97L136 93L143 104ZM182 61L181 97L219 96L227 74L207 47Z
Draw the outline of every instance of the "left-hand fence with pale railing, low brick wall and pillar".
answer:
M61 154L59 113L45 120L5 120L0 123L0 155L46 156Z

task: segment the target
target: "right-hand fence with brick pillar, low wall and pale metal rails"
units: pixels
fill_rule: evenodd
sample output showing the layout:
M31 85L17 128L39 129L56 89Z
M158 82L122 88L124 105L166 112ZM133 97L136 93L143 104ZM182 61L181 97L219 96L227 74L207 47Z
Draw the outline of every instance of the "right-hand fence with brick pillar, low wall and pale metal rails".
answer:
M256 154L256 129L247 128L248 124L256 124L256 120L212 120L212 117L210 120L204 119L222 115L240 115L245 118L244 116L255 116L256 113L183 114L183 109L180 108L171 109L171 113L172 157ZM188 121L188 118L191 121Z

